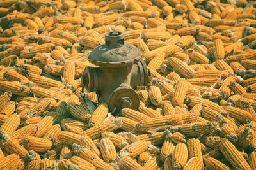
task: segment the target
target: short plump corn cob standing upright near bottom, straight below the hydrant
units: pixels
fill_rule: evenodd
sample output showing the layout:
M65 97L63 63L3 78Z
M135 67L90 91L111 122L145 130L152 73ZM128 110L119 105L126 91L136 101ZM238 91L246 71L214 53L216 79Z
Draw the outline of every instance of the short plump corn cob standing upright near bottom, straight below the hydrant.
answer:
M109 138L104 137L100 140L100 152L105 162L111 162L116 159L116 149Z

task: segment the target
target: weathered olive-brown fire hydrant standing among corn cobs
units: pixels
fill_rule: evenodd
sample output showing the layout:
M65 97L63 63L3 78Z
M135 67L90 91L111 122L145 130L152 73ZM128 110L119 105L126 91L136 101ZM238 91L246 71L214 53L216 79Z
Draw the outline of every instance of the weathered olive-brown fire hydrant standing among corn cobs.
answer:
M88 56L99 67L84 69L83 86L87 92L96 91L100 102L108 103L112 113L122 108L137 109L140 99L133 88L147 85L150 74L141 56L136 46L124 42L123 32L107 32L105 44L94 48Z

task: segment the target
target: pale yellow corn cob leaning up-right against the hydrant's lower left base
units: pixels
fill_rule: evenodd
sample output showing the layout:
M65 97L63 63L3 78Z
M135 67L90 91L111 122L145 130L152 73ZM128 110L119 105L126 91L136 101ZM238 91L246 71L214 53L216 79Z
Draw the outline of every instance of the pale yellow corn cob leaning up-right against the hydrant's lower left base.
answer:
M107 115L108 115L108 104L107 103L100 104L97 107L97 109L93 112L89 120L90 127L101 124Z

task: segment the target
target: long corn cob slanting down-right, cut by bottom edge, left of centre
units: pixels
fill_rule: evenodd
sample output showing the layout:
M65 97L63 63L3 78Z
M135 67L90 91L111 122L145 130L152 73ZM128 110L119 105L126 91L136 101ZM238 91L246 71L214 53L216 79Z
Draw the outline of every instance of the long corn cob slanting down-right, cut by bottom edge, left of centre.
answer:
M72 150L77 153L79 157L93 164L93 166L95 166L97 169L113 169L113 167L100 159L95 153L91 152L87 148L84 148L83 146L74 143L72 145Z

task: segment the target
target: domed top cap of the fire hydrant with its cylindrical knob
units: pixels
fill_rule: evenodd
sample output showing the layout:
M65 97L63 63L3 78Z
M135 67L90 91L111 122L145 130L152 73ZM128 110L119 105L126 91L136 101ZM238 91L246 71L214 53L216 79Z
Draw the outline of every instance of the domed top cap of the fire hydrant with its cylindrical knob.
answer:
M124 34L111 31L105 34L106 43L92 50L88 58L101 67L123 67L141 59L142 53L136 46L124 43Z

